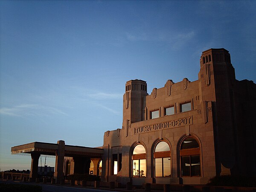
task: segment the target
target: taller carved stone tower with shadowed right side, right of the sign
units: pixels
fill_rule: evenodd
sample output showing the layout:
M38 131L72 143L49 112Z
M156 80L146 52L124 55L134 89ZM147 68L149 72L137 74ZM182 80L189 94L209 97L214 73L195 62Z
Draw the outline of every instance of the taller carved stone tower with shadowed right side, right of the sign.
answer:
M200 101L212 102L215 157L217 174L236 164L236 128L233 112L233 84L235 70L229 52L224 49L208 49L200 59L199 92Z

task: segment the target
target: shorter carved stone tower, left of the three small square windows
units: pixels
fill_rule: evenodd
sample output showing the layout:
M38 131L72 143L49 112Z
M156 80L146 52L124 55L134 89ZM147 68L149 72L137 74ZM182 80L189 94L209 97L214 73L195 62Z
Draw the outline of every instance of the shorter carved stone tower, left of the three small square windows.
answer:
M135 79L126 82L123 96L123 128L128 128L133 122L144 120L143 98L147 95L146 81Z

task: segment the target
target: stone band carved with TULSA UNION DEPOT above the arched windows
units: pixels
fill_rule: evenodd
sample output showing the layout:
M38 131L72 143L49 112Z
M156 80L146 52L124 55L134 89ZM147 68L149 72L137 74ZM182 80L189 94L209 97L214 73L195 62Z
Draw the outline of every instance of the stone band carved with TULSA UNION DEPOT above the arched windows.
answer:
M177 128L177 127L182 127L186 125L193 125L192 116L175 119L171 121L166 121L166 122L155 123L152 125L136 127L134 128L134 134L147 133L151 131L157 131L160 129Z

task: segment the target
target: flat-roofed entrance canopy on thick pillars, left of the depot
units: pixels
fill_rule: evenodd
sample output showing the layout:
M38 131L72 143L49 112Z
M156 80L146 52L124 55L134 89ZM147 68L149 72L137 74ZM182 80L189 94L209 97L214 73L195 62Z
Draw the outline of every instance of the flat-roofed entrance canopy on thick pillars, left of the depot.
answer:
M24 145L12 147L12 154L26 153L31 154L30 176L35 180L38 172L38 160L41 154L56 156L54 178L56 183L60 183L64 179L63 167L64 157L90 157L101 158L103 154L102 148L91 148L83 146L65 145L63 140L55 143L34 142Z

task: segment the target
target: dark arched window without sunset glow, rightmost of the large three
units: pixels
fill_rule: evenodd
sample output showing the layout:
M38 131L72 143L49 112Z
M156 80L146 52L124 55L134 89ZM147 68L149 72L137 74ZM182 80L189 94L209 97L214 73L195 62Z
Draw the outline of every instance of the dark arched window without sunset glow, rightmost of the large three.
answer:
M201 176L200 147L194 137L186 137L180 145L180 174L182 177Z

